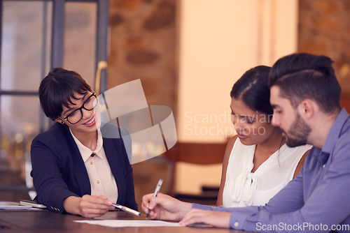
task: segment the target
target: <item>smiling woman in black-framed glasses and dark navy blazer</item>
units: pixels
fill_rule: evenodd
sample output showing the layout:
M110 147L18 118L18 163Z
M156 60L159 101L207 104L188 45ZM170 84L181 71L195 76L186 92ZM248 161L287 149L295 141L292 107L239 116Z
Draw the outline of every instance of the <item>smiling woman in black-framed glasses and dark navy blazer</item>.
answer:
M53 68L41 82L39 99L56 123L31 143L38 202L86 218L104 215L115 202L137 210L125 144L102 137L100 106L85 80Z

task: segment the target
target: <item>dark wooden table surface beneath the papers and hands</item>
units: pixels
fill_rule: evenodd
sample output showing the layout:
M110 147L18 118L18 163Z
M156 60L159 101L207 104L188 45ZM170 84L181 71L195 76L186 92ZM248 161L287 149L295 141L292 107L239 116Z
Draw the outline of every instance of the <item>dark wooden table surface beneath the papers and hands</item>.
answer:
M97 219L109 220L145 220L146 215L141 217L132 216L123 211L109 211ZM54 213L48 210L0 210L0 232L155 232L155 233L240 233L241 231L221 229L216 227L104 227L87 223L76 223L74 220L93 220L71 214ZM245 232L247 233L247 232Z

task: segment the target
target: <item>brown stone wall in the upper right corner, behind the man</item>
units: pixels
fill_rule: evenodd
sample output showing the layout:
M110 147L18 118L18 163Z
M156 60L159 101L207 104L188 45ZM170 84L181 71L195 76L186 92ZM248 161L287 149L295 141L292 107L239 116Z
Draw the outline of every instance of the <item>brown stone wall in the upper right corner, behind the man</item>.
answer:
M300 0L298 52L330 57L350 98L350 0Z

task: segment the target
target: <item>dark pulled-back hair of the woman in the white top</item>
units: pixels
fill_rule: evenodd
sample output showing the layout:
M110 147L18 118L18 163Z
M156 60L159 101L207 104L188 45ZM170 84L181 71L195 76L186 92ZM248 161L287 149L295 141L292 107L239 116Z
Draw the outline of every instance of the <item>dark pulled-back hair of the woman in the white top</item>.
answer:
M231 98L243 101L251 110L264 112L272 116L273 110L269 103L269 66L256 66L246 71L233 85Z

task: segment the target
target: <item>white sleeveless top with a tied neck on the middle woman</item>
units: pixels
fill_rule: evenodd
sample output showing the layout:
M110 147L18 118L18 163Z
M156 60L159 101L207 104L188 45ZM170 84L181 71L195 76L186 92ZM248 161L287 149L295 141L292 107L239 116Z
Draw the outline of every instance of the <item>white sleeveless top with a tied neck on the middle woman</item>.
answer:
M246 146L237 138L228 160L223 206L265 205L293 179L297 164L308 149L311 145L291 148L283 144L252 173L255 145Z

